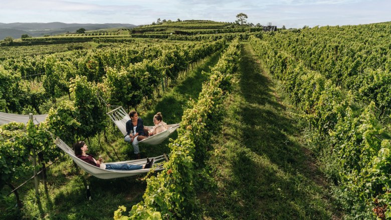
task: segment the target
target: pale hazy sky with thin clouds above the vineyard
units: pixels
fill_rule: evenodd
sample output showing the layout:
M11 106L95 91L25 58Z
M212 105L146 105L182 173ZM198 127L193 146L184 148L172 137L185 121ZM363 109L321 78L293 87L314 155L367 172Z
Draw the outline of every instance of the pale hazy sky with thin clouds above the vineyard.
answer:
M0 0L0 22L149 24L157 18L248 22L281 27L391 21L391 0Z

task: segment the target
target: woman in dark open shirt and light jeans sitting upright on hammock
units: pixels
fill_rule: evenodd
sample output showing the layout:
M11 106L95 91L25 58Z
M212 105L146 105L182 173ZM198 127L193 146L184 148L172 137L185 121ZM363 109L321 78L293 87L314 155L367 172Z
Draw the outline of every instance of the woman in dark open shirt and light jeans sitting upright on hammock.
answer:
M129 112L130 120L126 122L126 135L124 140L131 142L137 159L140 158L140 149L138 148L138 141L148 137L148 129L144 128L143 120L138 117L137 111Z

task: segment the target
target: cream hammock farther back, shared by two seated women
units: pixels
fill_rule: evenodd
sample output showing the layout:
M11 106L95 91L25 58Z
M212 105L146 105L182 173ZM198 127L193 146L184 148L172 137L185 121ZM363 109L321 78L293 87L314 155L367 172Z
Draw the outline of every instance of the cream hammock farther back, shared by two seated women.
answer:
M122 106L119 106L115 108L114 110L111 110L107 112L107 114L110 116L110 118L113 120L113 122L117 125L119 130L121 130L122 134L126 135L126 122L130 120L129 115L125 112L125 110L122 108ZM152 129L153 126L144 126L148 129ZM172 132L176 130L176 128L179 127L179 124L167 124L168 129L152 135L150 137L147 137L143 140L138 141L139 143L147 143L147 144L159 144L163 142Z

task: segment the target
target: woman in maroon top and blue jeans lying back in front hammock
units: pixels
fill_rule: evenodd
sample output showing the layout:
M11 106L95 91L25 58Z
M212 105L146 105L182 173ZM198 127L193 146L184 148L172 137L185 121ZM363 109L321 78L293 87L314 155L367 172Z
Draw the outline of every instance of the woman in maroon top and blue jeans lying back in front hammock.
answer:
M127 164L127 163L103 163L102 157L99 157L98 160L96 160L91 154L87 153L88 151L88 145L84 141L79 141L73 144L73 147L75 149L75 155L79 157L80 159L84 160L85 162L88 162L94 166L98 166L102 169L116 169L116 170L135 170L135 169L147 169L152 167L153 164L153 158L149 160L147 158L147 163L144 165L134 165L134 164Z

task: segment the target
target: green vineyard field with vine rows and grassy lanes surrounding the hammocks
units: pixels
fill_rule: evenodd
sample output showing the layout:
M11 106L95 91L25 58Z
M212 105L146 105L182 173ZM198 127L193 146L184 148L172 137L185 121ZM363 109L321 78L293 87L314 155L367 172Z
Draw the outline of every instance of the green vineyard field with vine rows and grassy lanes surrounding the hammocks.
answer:
M0 218L391 218L390 28L194 20L0 47L0 111L48 113L0 125ZM180 123L140 143L141 158L168 155L161 171L100 179L54 144L135 159L106 115L118 105ZM34 180L9 194L47 166L38 196Z

